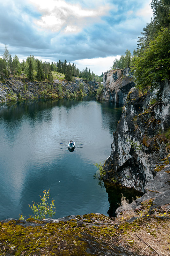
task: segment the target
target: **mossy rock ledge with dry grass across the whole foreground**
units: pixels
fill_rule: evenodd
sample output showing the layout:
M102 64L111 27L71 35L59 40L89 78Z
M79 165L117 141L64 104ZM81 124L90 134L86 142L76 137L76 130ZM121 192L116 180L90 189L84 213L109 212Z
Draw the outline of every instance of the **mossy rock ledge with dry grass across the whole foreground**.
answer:
M0 222L0 255L170 255L170 167L117 217L102 214Z

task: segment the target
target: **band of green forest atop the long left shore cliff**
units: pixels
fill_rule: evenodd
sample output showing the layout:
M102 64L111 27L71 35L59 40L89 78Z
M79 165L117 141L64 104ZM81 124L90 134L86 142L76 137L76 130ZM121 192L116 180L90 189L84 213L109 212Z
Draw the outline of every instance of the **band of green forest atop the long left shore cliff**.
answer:
M30 81L49 81L54 82L54 72L60 73L63 79L67 81L74 80L74 77L79 77L84 79L86 82L96 80L97 82L102 81L102 75L96 76L87 67L80 71L77 66L70 62L67 63L66 60L55 62L47 62L35 58L33 55L27 57L26 61L19 61L17 55L12 59L9 53L7 45L4 48L4 54L0 58L0 80L4 82L4 78L21 77L25 76Z

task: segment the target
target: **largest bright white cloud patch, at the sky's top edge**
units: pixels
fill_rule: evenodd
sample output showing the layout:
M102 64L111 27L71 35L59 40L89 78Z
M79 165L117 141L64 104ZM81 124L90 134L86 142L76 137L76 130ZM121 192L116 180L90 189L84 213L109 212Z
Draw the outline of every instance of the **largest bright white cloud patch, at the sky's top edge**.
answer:
M80 4L69 4L64 0L29 0L42 16L34 20L41 28L52 32L78 33L85 26L91 26L100 20L111 9L109 4L100 5L96 9L82 8ZM113 6L112 6L113 8Z

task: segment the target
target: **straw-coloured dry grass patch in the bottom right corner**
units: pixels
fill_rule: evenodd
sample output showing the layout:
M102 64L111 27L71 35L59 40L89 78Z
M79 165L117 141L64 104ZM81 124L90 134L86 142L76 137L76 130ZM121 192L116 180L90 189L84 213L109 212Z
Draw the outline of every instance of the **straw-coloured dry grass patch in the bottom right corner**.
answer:
M124 246L129 245L132 252L136 252L141 256L170 256L169 220L161 222L156 219L152 219L149 222L141 220L139 227L139 230L134 231L128 229L122 235Z

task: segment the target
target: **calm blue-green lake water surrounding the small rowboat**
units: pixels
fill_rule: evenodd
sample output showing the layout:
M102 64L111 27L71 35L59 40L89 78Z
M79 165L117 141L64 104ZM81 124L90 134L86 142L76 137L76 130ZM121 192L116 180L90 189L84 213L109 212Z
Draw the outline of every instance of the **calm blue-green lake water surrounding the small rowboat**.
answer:
M108 194L93 179L94 163L110 155L121 113L121 106L92 98L0 105L0 220L31 215L28 205L44 189L55 199L54 218L107 215ZM61 149L70 139L83 145Z

